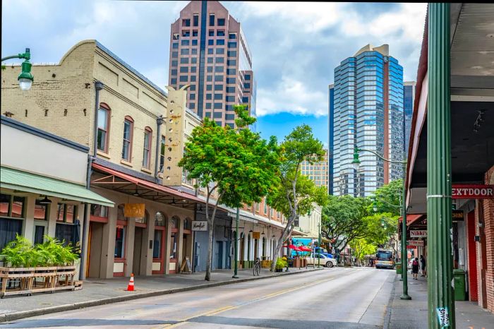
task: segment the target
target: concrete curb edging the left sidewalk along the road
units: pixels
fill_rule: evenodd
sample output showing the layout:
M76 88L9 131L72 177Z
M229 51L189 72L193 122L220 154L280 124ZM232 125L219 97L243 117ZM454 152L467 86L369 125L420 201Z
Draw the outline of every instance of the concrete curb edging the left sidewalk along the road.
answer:
M190 286L190 287L180 287L180 288L172 288L172 289L164 289L164 290L155 290L153 292L140 292L137 294L129 294L129 295L125 295L125 296L116 296L116 297L109 297L109 298L105 298L105 299L95 299L92 301L80 301L78 303L73 303L73 304L64 304L64 305L44 307L42 309L33 309L33 310L29 310L29 311L18 311L18 312L12 312L12 313L5 313L5 314L0 314L0 323L6 322L6 321L19 320L21 318L30 318L32 316L42 316L44 314L49 314L49 313L57 313L57 312L63 312L63 311L71 311L71 310L75 310L75 309L83 309L85 307L90 307L90 306L112 304L112 303L118 303L120 301L131 301L133 299L141 299L141 298L146 298L146 297L156 297L156 296L162 296L165 294L176 294L177 292L189 292L191 290L198 290L198 289L204 289L204 288L210 288L210 287L219 287L219 286L231 285L231 284L239 283L239 282L263 280L263 279L269 279L272 277L279 277L279 276L284 276L284 275L308 273L308 272L313 272L315 270L323 270L323 268L313 268L313 269L308 269L308 270L304 270L301 272L288 272L288 273L282 272L282 273L276 273L276 274L272 274L272 275L266 275L263 277L244 277L242 279L234 279L234 280L227 280L227 281L221 281L221 282L205 283L203 285L195 285L195 286Z

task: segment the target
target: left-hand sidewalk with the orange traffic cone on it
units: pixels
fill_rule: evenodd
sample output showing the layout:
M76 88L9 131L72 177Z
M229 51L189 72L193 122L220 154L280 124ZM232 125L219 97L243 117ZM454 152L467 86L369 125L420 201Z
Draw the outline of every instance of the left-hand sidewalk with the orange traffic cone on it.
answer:
M215 270L212 272L212 280L209 282L204 280L204 272L134 277L134 292L126 291L128 277L115 277L105 280L88 279L84 281L82 290L55 292L53 294L40 293L32 296L20 295L0 299L0 322L313 270L318 270L318 268L290 268L289 272L282 273L270 273L269 270L263 268L260 276L254 277L252 269L249 268L239 270L239 279L231 277L233 270Z

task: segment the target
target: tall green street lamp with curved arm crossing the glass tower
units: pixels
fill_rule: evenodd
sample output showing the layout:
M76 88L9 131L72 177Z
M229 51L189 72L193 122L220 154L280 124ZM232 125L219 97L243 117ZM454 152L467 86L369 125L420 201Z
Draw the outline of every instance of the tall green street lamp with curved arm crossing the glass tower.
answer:
M381 157L378 155L378 153L372 151L372 150L364 150L361 148L355 148L354 151L354 160L351 162L351 164L354 166L354 168L358 169L360 160L359 160L359 152L371 152L373 155L376 157L379 157L381 160L385 162L390 162L390 163L399 163L403 165L403 192L402 192L402 278L403 278L403 294L402 296L399 297L399 299L405 299L405 300L410 300L411 297L408 294L408 285L407 285L407 280L408 277L406 277L406 186L405 186L405 178L406 178L406 161L394 161L394 160L388 160L385 159L384 157ZM405 267L404 267L405 265Z

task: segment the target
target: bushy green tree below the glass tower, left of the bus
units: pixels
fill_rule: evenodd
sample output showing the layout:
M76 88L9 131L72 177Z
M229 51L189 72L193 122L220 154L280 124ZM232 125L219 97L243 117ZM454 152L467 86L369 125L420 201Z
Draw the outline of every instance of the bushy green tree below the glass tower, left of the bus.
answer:
M368 198L352 196L328 196L323 208L321 235L332 242L337 252L344 249L353 239L366 237Z

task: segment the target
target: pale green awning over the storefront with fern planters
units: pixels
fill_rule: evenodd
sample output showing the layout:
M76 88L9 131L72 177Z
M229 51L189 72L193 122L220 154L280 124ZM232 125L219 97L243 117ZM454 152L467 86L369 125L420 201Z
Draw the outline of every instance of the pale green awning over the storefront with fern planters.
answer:
M114 206L112 201L86 189L85 186L6 167L0 167L0 187L95 205Z

